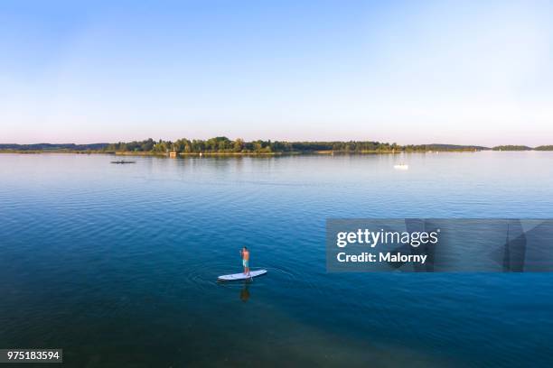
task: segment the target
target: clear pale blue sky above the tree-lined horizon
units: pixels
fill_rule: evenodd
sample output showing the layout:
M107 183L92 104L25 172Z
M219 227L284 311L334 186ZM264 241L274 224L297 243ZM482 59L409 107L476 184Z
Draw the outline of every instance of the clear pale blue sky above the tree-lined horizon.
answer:
M552 144L552 19L548 1L4 0L0 143Z

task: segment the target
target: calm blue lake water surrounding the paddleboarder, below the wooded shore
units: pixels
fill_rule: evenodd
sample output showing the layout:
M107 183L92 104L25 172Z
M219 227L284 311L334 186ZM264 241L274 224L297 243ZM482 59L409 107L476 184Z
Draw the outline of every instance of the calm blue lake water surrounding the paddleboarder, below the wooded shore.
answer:
M553 274L327 273L324 245L327 217L553 217L552 152L111 160L0 155L0 348L75 367L553 363ZM243 245L267 276L218 284Z

